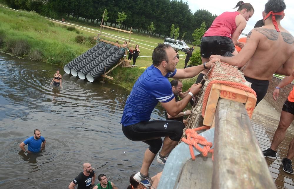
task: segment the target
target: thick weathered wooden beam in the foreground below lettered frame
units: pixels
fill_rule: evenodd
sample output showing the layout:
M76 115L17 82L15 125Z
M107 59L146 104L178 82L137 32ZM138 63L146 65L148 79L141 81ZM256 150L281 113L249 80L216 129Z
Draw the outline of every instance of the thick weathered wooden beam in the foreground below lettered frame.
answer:
M276 188L243 103L220 98L212 188Z

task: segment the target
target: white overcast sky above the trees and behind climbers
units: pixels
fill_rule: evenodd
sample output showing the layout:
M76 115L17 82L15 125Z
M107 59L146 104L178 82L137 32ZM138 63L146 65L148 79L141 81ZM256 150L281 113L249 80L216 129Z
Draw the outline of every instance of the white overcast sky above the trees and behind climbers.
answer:
M185 0L183 0L185 2ZM186 0L189 4L189 7L194 13L197 9L206 9L212 14L220 15L225 11L237 11L238 8L233 9L238 0L225 0L225 1L217 1L217 0ZM243 0L244 1L244 0ZM254 14L247 22L246 28L243 33L248 34L250 30L253 29L255 23L262 19L262 11L264 11L264 5L268 0L248 0L244 1L245 3L250 3L254 8ZM284 0L286 4L286 9L284 11L285 17L281 21L281 25L283 28L288 30L292 35L294 35L294 1L293 0ZM292 11L291 11L292 10ZM240 36L244 37L244 36Z

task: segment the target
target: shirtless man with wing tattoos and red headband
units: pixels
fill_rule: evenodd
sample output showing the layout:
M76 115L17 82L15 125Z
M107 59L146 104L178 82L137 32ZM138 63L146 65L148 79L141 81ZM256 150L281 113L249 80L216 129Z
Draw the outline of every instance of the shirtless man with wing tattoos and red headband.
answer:
M274 73L290 76L293 72L294 38L280 25L285 8L283 0L269 0L262 12L264 26L248 33L246 44L239 54L210 57L241 68L245 79L252 83L252 89L256 92L256 105L265 96Z

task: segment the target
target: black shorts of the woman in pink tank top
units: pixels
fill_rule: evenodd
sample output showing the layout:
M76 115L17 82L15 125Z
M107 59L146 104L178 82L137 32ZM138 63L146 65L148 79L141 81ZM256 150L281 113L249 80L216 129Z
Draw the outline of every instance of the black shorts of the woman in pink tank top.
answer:
M234 52L235 45L231 38L224 36L206 36L202 37L200 45L200 54L203 58L209 58L211 55L225 55L226 52Z

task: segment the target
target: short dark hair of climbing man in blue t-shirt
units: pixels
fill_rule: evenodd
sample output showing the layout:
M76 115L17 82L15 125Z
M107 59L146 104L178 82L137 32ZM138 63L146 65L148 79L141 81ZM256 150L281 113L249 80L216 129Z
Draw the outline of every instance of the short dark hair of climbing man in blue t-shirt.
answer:
M166 54L166 49L171 47L168 44L159 43L157 47L152 52L152 64L154 66L159 66L162 61L168 62L168 57Z

